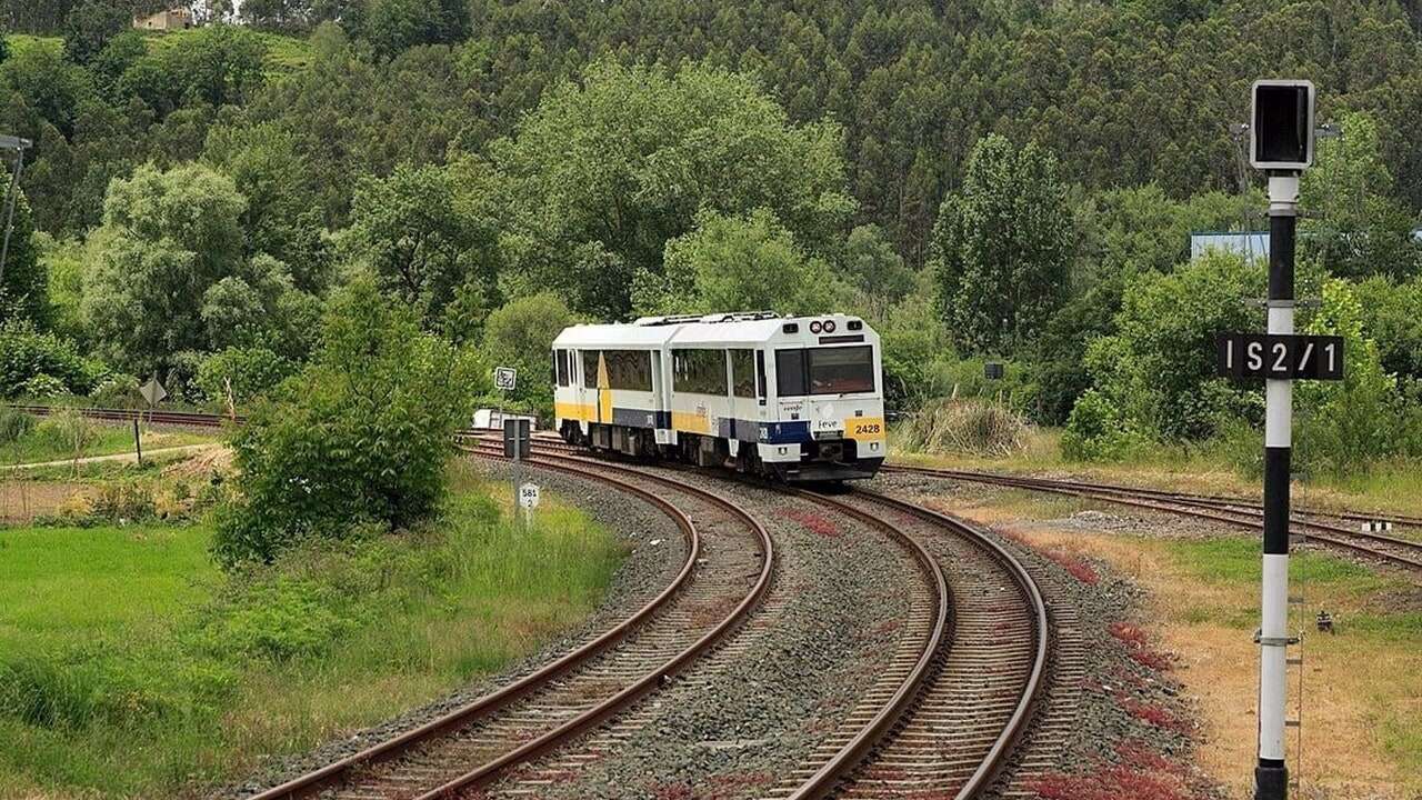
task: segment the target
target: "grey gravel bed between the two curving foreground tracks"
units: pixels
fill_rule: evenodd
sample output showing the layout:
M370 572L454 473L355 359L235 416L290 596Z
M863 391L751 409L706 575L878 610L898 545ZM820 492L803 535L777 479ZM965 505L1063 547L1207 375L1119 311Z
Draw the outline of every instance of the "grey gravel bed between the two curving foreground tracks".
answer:
M499 789L540 799L757 797L835 730L893 653L914 562L799 498L693 473L771 530L776 582L737 638L611 729ZM545 781L553 784L519 781Z

